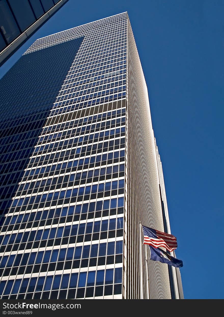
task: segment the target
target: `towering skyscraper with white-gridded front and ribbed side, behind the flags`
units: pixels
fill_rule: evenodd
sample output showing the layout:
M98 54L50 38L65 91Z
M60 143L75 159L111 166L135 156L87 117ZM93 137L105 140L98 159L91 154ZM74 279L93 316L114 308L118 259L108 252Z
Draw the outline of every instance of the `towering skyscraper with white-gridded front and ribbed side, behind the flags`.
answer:
M140 244L170 226L127 12L37 40L0 96L1 298L182 298Z

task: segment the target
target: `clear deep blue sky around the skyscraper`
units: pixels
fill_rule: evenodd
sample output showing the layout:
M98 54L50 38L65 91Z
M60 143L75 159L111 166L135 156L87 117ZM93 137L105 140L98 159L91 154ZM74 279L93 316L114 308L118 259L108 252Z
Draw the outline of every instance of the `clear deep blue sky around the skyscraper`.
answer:
M184 296L224 298L224 2L69 0L39 37L128 11L149 92Z

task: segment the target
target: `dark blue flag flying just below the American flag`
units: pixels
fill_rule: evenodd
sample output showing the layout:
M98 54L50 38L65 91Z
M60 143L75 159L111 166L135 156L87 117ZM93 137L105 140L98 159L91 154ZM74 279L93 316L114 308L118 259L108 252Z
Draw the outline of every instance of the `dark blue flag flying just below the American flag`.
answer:
M175 266L176 268L181 268L183 266L183 262L170 256L167 252L163 251L160 248L153 248L151 245L150 248L150 260L160 261L162 263L166 263L168 265Z

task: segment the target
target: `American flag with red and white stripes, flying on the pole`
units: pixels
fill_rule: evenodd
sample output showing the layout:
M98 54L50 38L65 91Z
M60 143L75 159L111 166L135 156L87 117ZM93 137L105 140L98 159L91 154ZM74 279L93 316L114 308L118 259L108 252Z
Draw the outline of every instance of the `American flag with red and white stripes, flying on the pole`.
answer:
M144 244L152 245L154 248L164 247L170 252L177 249L177 238L175 236L145 226L142 226L142 228Z

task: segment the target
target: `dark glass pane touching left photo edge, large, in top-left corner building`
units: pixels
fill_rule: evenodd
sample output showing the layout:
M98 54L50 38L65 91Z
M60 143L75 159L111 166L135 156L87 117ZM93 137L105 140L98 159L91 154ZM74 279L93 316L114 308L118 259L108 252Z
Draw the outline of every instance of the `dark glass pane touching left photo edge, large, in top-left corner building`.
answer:
M0 27L6 41L12 42L20 34L20 31L6 0L0 1L0 21Z

